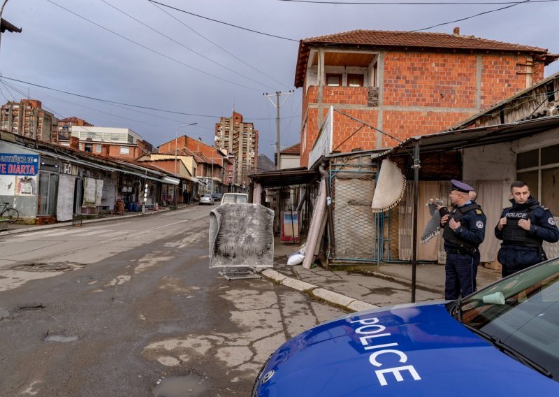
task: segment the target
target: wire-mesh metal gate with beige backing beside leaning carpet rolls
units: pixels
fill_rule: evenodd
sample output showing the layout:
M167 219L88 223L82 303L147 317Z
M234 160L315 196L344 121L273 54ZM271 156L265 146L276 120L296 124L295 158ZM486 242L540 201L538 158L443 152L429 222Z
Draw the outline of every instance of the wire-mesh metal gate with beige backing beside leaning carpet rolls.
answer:
M329 261L379 263L389 256L389 212L371 210L379 164L370 155L337 157L331 162L335 247Z

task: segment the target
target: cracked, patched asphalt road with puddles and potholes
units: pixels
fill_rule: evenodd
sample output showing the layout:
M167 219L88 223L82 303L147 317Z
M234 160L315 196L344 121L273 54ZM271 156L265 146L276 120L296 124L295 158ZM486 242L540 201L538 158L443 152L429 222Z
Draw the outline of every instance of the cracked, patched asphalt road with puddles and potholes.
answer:
M208 269L208 207L0 237L0 396L247 396L342 312Z

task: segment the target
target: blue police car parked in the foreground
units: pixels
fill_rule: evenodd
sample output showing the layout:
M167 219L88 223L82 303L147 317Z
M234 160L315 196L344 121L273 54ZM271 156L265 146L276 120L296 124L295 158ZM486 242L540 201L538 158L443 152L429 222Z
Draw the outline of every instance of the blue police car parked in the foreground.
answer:
M559 396L559 258L459 301L333 319L287 341L253 397Z

